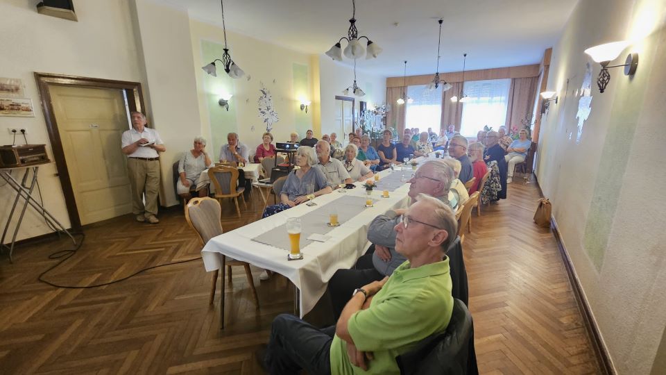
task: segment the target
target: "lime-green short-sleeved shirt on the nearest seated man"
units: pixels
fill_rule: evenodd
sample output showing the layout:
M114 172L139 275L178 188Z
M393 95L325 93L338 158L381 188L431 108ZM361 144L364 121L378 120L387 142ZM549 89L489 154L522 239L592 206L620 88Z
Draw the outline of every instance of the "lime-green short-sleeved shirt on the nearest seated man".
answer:
M402 263L379 290L370 307L350 318L348 330L360 351L372 351L372 374L400 374L395 357L416 348L433 333L445 331L453 312L449 259L410 268ZM435 313L436 312L436 313ZM332 374L360 374L347 356L347 342L334 336Z

